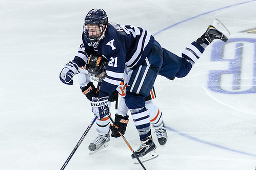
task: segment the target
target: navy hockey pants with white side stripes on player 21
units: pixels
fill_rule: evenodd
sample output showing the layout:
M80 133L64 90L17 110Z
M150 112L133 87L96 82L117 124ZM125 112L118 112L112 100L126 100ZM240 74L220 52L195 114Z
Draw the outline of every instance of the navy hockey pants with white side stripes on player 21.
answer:
M157 75L173 80L174 77L185 77L191 68L192 65L184 58L167 51L155 41L144 63L133 69L127 91L148 96Z

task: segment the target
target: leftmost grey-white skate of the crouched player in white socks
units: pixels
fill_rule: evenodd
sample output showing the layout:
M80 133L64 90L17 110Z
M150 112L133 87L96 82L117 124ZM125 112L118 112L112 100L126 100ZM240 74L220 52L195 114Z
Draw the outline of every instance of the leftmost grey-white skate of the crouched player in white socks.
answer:
M89 154L94 154L97 151L100 151L108 146L110 140L110 134L98 135L93 142L89 144L88 149L90 150Z

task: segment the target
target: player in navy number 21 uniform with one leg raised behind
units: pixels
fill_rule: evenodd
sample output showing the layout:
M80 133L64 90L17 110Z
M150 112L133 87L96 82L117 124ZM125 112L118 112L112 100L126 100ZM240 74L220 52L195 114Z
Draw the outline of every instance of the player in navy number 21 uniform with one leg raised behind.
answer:
M228 40L229 32L224 28L222 23L216 20L215 24L210 25L200 38L188 45L179 57L162 48L147 30L110 23L103 9L90 10L85 17L82 34L85 52L97 52L108 60L106 78L102 81L99 97L92 98L93 113L100 119L109 113L109 95L120 85L125 68L132 69L125 103L141 139L141 145L135 154L138 157L150 154L155 148L149 111L144 98L149 95L156 76L161 75L170 80L185 77L213 40ZM60 74L61 80L70 84L73 75L78 72L78 67L85 63L83 58L75 57L65 65Z

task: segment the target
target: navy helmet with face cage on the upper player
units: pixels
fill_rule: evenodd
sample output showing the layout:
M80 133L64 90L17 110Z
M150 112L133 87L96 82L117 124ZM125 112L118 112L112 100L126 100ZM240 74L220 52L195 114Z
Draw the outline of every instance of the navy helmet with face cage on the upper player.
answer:
M104 37L107 29L108 16L103 9L92 9L85 16L84 34L91 41L96 42ZM88 25L92 25L94 30L99 30L96 35L89 35ZM95 33L94 33L95 34Z

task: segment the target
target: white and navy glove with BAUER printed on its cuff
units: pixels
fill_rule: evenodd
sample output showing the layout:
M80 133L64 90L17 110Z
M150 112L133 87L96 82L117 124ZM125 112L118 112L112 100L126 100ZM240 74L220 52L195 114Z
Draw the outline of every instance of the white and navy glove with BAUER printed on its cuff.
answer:
M98 119L102 119L109 114L108 96L103 98L92 97L91 101L92 112Z

